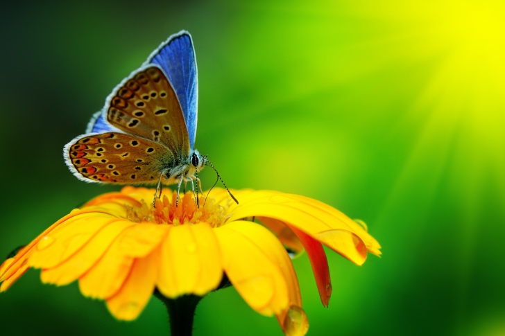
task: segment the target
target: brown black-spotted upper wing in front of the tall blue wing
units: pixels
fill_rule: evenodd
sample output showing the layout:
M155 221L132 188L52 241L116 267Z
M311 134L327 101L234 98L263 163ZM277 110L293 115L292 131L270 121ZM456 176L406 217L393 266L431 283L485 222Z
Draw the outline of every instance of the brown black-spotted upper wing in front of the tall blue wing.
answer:
M107 98L110 125L165 145L183 161L190 146L176 92L163 71L149 65L134 71Z

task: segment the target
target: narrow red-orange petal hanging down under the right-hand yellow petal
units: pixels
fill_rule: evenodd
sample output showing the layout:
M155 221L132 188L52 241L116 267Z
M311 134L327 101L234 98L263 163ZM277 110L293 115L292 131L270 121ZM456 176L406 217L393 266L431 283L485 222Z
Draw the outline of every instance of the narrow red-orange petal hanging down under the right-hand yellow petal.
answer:
M294 227L293 231L296 233L296 236L300 238L305 247L307 256L309 256L312 272L314 273L314 278L316 279L321 303L323 303L323 306L327 307L329 297L332 295L332 280L329 277L328 260L323 245L303 231L295 229Z

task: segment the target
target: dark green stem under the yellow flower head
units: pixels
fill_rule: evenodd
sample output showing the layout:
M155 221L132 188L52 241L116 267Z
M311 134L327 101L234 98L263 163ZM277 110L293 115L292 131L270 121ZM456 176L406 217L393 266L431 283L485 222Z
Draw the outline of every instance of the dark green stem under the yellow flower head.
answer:
M196 306L203 297L197 295L182 295L176 299L164 297L155 290L155 297L160 299L169 313L171 336L191 336Z

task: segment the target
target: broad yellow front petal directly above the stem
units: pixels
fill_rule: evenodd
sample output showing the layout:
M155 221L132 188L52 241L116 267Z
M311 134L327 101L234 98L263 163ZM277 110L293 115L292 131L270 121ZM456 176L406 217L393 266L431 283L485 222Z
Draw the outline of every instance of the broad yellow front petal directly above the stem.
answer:
M221 282L221 252L207 223L171 227L161 251L157 288L165 297L204 295Z

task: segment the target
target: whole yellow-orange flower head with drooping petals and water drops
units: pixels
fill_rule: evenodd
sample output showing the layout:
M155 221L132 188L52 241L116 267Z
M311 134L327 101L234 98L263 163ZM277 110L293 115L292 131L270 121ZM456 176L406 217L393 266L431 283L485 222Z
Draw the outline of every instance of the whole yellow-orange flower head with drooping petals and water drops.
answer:
M28 267L44 283L78 280L83 295L106 301L117 319L135 319L155 289L167 298L203 296L223 273L251 308L275 315L286 335L305 335L308 321L285 247L307 251L320 299L332 292L323 245L357 265L379 243L340 211L275 191L215 189L198 208L192 193L149 200L153 189L106 193L55 222L0 266L0 291ZM255 222L258 220L262 224Z

